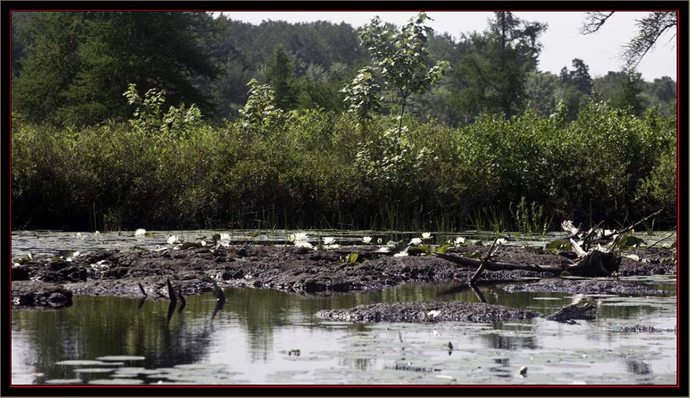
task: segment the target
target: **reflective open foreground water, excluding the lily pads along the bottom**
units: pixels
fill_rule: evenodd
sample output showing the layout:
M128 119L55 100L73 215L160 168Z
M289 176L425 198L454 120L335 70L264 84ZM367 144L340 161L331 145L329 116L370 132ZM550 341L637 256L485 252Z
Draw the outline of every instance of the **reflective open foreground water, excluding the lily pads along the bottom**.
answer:
M480 286L478 290L490 304L527 308L542 314L557 310L569 302L571 296L509 294L496 285ZM348 370L348 377L355 377L353 382L362 381L356 378L367 379L371 374L358 372L385 372L386 367L403 359L413 362L414 366L422 361L419 366L423 368L437 366L458 372L464 366L483 366L485 370L491 367L493 377L509 380L512 374L505 370L509 360L511 366L516 364L515 355L537 355L549 349L561 349L562 341L568 341L573 350L590 349L592 339L601 339L594 346L607 350L620 344L648 344L634 334L613 331L611 321L631 319L631 323L640 324L658 316L655 314L659 311L671 313L675 310L673 299L668 297L645 298L647 304L651 304L645 310L640 309L644 307L642 304L635 304L635 298L604 297L600 300L600 319L576 326L562 326L541 319L480 325L372 326L326 322L315 319L313 314L323 309L382 301L477 302L480 299L468 286L453 284L400 286L331 297L304 297L268 289L224 289L221 292L225 301L219 299L218 292L192 296L186 298L186 306L181 309L170 301L146 300L142 305L141 299L75 297L74 306L65 310L14 310L12 379L15 379L14 372L16 379L20 378L20 373L21 377L36 372L44 374L43 377L32 376L32 383L75 377L102 379L110 377L111 372L77 373L74 368L55 365L55 362L106 355L141 355L146 358L144 361L126 366L155 369L220 362L240 373L242 379L255 383L270 382L270 378L275 377L272 375L280 375L281 380L311 377L323 381L324 372L329 369L330 372ZM631 342L633 340L635 343ZM660 340L655 344L668 346L674 341ZM301 354L288 355L286 352L291 350L300 350ZM500 352L501 356L484 354L486 350ZM658 358L656 348L648 351L630 355L626 362L618 362L617 366L630 375L647 375L644 371L651 370L651 366L644 367L649 363L646 356L667 360L663 356ZM500 361L483 364L481 361L487 355L486 360ZM619 361L620 358L605 360ZM444 364L443 361L450 362L437 365ZM540 380L538 368L530 372L530 382ZM457 375L457 379L466 381L467 377ZM330 380L328 382L346 382L339 377Z

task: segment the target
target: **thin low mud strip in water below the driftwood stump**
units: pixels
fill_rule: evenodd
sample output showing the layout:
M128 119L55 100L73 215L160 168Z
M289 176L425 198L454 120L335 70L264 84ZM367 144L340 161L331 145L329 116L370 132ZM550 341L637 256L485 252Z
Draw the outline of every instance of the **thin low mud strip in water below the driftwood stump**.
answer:
M540 279L534 283L503 286L506 292L530 293L580 293L582 295L667 295L666 290L657 290L647 286L616 280L600 279Z

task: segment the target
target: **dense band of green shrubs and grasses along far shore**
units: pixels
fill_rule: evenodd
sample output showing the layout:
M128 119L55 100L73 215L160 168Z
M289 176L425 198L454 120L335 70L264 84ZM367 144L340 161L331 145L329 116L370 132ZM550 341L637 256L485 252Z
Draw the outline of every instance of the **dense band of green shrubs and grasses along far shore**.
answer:
M12 228L676 225L676 119L591 102L449 128L301 111L260 123L14 123Z

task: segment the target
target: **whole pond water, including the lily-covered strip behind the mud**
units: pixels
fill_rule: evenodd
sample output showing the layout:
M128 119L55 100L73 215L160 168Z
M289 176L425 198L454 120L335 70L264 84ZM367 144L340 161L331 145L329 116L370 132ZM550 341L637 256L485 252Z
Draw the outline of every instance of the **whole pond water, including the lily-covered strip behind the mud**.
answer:
M12 253L54 253L61 239L80 243L74 232L61 233L13 232ZM49 245L27 238L37 235ZM101 234L99 244L113 248L117 239L109 235ZM148 240L156 236L161 244L167 235ZM69 248L95 250L89 239ZM137 240L119 243L131 248ZM572 325L541 317L355 325L314 316L380 302L479 301L460 283L329 297L227 288L224 306L211 294L187 297L170 319L167 301L76 296L63 310L12 310L12 384L676 384L676 277L628 279L670 293L598 295L596 319ZM486 302L548 315L572 298L501 286L480 286ZM633 326L658 331L621 331Z

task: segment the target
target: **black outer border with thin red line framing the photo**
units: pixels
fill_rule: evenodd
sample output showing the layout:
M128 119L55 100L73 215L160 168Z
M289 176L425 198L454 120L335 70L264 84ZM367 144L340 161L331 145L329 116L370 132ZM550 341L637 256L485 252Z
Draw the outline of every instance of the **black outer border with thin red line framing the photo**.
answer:
M424 1L424 2L400 2L400 1L351 1L339 2L235 2L235 1L2 1L1 6L1 34L2 43L2 76L1 87L3 95L3 118L1 126L3 138L0 141L2 150L2 179L3 190L0 197L2 215L2 252L6 253L7 261L11 263L11 159L10 159L10 10L204 10L204 11L228 11L228 10L380 10L380 11L453 11L453 10L512 10L512 11L586 11L586 10L678 10L678 164L680 166L680 142L687 140L685 129L687 124L688 109L688 2L687 1ZM682 128L682 130L681 130ZM685 148L685 147L684 147ZM683 148L683 149L684 149ZM681 190L680 181L687 181L687 163L678 168L678 259L679 263L687 265L685 260L684 237L686 230L682 223L681 211L687 209L688 201L685 196L686 187ZM681 172L682 170L682 172ZM680 178L682 177L682 178ZM683 192L683 202L680 204L680 192ZM682 220L687 215L682 215ZM682 242L682 243L681 243ZM6 263L7 264L7 263ZM2 352L10 353L10 275L7 265L1 274L0 288L2 290L3 303L1 319L3 320L1 348ZM400 395L400 396L455 396L455 395L531 395L531 396L688 396L688 382L683 381L687 375L687 290L680 288L680 278L687 281L687 268L678 272L678 385L676 386L11 386L10 385L10 356L2 355L1 390L2 396L132 396L132 395L159 395L159 396L235 396L235 395L304 395L304 396L354 396L362 395ZM684 287L684 286L683 286ZM683 338L685 337L685 338Z

